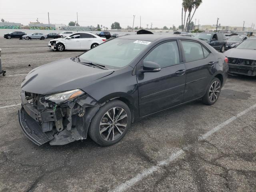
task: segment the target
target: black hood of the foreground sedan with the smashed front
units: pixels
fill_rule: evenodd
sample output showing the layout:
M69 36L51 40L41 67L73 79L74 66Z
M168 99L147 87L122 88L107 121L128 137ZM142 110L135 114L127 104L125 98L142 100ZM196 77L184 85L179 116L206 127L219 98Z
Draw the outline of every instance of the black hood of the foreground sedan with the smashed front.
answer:
M30 71L21 87L26 92L37 94L73 89L84 90L86 85L113 72L113 70L86 66L68 58L45 64Z

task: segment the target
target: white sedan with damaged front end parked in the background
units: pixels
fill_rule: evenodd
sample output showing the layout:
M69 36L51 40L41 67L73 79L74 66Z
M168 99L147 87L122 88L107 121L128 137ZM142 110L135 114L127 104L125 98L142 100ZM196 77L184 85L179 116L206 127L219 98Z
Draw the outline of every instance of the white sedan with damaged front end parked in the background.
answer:
M99 37L92 33L74 33L65 38L58 38L49 41L48 47L51 50L89 50L102 44L106 38Z

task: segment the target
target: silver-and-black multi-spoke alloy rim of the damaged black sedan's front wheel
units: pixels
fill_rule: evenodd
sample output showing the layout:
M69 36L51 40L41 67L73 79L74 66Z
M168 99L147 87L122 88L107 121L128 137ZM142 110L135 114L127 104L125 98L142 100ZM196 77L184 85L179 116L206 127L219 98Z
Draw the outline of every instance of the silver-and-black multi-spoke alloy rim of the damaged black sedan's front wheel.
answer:
M124 133L127 123L126 111L121 107L113 107L103 115L100 121L100 136L106 141L114 141Z

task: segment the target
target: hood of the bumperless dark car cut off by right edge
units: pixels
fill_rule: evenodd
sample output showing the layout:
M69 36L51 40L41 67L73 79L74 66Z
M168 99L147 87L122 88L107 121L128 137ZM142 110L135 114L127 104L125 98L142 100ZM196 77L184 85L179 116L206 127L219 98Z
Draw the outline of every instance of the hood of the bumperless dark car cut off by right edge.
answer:
M233 48L224 52L226 57L256 60L256 50Z

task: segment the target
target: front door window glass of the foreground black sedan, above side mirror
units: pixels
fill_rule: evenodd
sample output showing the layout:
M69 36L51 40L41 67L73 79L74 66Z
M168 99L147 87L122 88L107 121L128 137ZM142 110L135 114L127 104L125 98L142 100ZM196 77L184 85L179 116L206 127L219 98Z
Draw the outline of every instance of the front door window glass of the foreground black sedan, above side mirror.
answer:
M157 46L146 56L144 61L158 63L161 68L180 63L177 42L172 41Z

